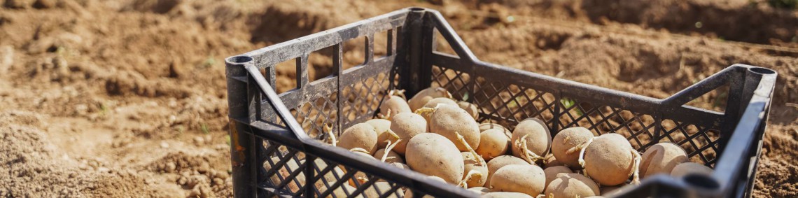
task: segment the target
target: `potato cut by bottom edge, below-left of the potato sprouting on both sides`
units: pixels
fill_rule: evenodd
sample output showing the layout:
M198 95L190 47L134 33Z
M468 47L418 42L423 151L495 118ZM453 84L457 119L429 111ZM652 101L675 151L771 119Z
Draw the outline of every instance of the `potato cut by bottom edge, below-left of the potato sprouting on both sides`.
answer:
M588 197L599 193L599 184L577 173L559 174L546 188L546 195L554 197Z

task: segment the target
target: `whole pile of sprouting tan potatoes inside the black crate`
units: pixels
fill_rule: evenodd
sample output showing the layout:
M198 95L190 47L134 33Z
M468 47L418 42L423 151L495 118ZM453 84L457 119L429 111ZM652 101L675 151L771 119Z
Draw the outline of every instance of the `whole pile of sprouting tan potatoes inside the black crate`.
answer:
M445 89L424 89L409 101L401 92L391 91L380 105L380 118L352 125L340 137L327 133L332 145L364 158L421 172L430 180L485 197L601 196L659 173L712 172L689 162L685 151L672 143L659 143L640 155L616 133L595 137L588 129L574 127L552 138L545 123L536 118L520 121L510 131L502 125L477 123L478 115L476 105L452 100ZM354 177L368 180L362 173ZM354 180L343 188L354 189ZM375 185L389 189L385 181ZM410 191L398 191L413 197ZM373 188L364 193L377 195Z

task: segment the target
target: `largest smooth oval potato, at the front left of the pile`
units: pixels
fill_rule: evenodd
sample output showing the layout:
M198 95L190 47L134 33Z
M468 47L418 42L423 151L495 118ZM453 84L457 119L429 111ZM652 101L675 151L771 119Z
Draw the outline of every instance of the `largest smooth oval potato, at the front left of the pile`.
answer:
M414 171L440 177L450 184L463 180L463 156L454 143L437 133L421 133L411 138L405 160Z

